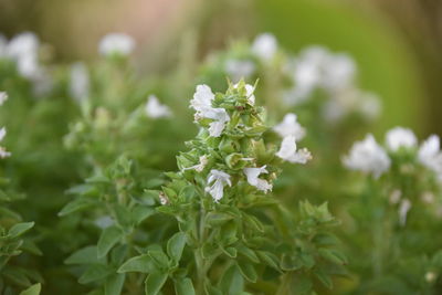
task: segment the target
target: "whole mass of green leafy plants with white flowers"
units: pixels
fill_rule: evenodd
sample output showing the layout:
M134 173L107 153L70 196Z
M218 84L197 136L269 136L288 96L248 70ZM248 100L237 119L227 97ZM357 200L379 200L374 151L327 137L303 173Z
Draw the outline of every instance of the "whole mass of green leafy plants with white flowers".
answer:
M145 77L134 50L0 36L0 294L441 292L440 139L351 147L381 105L350 56L266 33Z

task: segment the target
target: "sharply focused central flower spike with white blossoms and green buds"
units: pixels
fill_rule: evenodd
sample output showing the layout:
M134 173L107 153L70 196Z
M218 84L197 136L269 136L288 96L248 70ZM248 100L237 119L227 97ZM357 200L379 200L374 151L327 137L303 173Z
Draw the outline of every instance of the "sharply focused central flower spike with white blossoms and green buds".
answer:
M280 149L265 146L261 136L269 128L263 109L254 105L253 91L254 86L243 81L231 85L225 94L213 94L208 85L198 85L190 102L201 130L191 151L179 156L178 164L185 175L191 170L207 175L204 190L215 202L224 197L225 187L241 182L266 193L272 190L275 161L305 164L311 159L307 149L297 150L296 140L305 129L294 114L274 127L283 137Z

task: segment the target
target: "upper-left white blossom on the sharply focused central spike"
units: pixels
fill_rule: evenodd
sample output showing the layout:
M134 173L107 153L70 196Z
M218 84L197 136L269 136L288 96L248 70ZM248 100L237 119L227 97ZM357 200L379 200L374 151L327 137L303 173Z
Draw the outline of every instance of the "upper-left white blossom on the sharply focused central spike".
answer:
M198 85L193 94L193 99L190 101L190 106L197 110L196 118L213 119L209 124L209 134L213 137L219 137L225 127L225 123L230 120L230 116L224 108L212 107L214 94L208 85Z

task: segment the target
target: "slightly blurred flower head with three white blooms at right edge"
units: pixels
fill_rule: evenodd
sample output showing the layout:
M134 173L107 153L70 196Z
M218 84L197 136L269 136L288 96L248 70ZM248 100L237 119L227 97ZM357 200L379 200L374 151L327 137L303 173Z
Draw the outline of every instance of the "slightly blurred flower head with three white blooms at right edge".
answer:
M362 141L354 144L343 162L351 170L371 173L375 178L386 175L387 191L390 191L389 202L399 204L400 224L404 225L414 194L420 194L424 203L433 203L433 193L438 191L431 186L431 179L442 186L440 138L432 135L418 146L418 139L411 129L396 127L386 134L385 141L386 147L382 147L372 135L367 135ZM413 187L411 191L410 185Z

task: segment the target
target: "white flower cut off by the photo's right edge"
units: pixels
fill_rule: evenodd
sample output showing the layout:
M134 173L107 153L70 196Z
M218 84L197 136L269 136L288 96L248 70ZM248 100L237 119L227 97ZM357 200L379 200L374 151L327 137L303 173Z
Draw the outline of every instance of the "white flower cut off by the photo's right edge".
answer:
M442 152L439 136L432 135L421 145L418 159L423 166L433 170L442 181Z

